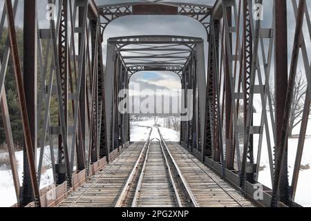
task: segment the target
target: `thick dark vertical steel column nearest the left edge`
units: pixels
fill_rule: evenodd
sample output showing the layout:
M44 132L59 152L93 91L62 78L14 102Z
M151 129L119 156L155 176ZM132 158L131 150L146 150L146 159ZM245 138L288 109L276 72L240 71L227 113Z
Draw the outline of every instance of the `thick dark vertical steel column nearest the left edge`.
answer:
M18 61L19 62L19 61ZM25 90L32 154L37 150L37 1L24 2L23 17L23 87ZM23 188L21 205L32 202L33 193L26 144L23 145ZM35 160L36 162L36 160ZM37 181L37 180L36 180Z

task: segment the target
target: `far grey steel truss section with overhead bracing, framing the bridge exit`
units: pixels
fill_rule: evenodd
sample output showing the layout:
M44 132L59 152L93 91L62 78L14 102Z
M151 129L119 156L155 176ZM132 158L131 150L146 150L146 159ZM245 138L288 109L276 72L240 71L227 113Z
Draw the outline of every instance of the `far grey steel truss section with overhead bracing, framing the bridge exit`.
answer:
M140 52L144 51L144 54ZM160 59L160 60L159 60ZM170 66L169 66L169 65ZM179 36L130 36L108 40L106 61L106 122L110 151L123 148L129 142L128 126L120 130L121 122L129 125L129 114L118 113L118 92L129 88L130 77L141 70L171 70L178 67L182 89L193 89L194 106L189 122L182 122L180 141L189 149L200 151L203 147L205 118L205 61L202 39ZM138 68L139 67L139 68ZM198 91L198 92L197 92ZM187 97L184 97L185 102ZM187 130L191 127L191 130ZM111 131L111 132L110 132ZM109 138L110 137L110 138ZM122 140L122 137L125 140Z

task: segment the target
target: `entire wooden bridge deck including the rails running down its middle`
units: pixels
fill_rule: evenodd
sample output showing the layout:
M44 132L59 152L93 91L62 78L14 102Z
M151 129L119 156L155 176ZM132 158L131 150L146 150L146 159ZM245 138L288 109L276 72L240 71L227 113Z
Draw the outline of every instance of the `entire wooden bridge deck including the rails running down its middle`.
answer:
M59 206L253 206L159 128L160 139L151 139L149 128L146 142L131 144Z

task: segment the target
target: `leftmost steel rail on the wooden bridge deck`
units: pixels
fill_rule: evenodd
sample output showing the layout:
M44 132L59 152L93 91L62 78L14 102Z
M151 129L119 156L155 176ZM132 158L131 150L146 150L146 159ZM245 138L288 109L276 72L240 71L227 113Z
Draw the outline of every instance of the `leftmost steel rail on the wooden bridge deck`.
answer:
M124 202L124 199L126 198L126 194L128 192L129 186L131 186L131 182L133 181L133 177L138 170L140 160L142 160L144 150L146 149L147 144L148 145L150 144L150 136L151 136L152 131L153 131L153 128L150 127L150 132L149 132L147 141L144 143L144 147L142 148L142 151L140 151L140 155L139 155L138 159L136 160L136 162L133 166L133 169L132 169L131 173L129 174L129 177L127 178L127 180L126 180L126 182L122 188L122 191L119 195L119 198L117 198L117 202L115 202L115 207L121 207L123 202Z

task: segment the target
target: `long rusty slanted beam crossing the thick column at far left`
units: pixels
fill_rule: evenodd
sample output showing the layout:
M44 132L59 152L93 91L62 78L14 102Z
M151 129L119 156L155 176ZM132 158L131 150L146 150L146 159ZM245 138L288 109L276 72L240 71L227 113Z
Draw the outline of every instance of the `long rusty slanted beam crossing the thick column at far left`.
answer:
M33 0L31 1L31 3L36 3L36 1ZM8 16L8 32L9 32L9 37L10 37L10 50L12 52L12 61L14 64L15 79L16 79L16 84L17 84L17 94L19 97L19 104L21 108L23 135L24 135L25 148L26 148L27 160L28 160L28 169L30 171L30 183L32 185L32 193L33 193L33 198L35 200L35 204L36 206L41 206L39 186L38 186L37 174L36 174L35 155L33 153L34 148L32 144L32 131L30 129L30 123L28 119L28 104L26 102L25 88L23 86L23 77L21 73L21 64L19 62L19 50L18 50L18 44L17 44L16 30L15 30L15 20L14 20L14 15L13 15L12 2L10 0L6 0L6 12ZM35 121L35 119L33 119L33 121Z

